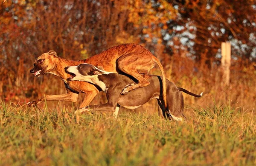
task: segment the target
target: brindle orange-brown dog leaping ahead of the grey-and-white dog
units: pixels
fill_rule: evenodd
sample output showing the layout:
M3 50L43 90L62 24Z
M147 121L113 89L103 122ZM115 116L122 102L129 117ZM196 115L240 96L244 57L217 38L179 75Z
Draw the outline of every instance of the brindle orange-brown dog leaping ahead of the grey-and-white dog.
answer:
M154 62L157 63L163 78L165 78L163 66L160 61L146 48L137 44L117 45L88 59L79 61L60 58L55 51L51 50L48 53L43 53L35 60L34 68L30 70L30 73L33 73L35 77L40 77L45 73L54 74L64 82L67 93L61 95L45 95L38 101L32 101L27 104L32 106L49 100L76 102L79 93L86 93L80 108L89 105L93 98L99 93L99 89L87 82L68 81L70 74L64 71L66 66L90 63L94 66L102 66L106 71L130 75L136 79L137 84L125 87L122 90L122 94L126 94L131 90L150 84L148 81L150 76L147 73L154 67ZM163 100L166 101L165 79L163 81Z

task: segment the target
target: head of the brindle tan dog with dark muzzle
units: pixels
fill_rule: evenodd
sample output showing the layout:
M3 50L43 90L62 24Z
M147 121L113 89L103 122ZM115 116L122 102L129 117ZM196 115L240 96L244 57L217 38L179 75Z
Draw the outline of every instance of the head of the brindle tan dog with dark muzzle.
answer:
M54 59L58 58L57 53L50 50L48 53L43 53L34 62L34 68L30 70L36 77L40 77L45 73L51 72L54 68Z

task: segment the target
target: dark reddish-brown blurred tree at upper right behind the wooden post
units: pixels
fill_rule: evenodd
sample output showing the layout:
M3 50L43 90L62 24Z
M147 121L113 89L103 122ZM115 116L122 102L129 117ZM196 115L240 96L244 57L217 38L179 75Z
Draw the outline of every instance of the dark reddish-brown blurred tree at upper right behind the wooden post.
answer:
M214 61L221 42L227 41L234 57L256 60L255 0L175 0L172 4L180 13L177 24L194 34L188 41L194 42L192 53L197 60Z

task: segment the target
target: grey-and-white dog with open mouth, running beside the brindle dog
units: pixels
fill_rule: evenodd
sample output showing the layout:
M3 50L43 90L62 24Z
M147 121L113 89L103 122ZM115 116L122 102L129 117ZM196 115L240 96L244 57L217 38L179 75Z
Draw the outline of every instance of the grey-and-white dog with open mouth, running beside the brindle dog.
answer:
M122 95L122 90L127 87L128 84L131 84L131 86L134 84L134 80L128 76L106 72L90 64L69 66L65 68L65 71L72 75L72 77L68 79L69 81L90 82L91 84L99 86L103 91L107 90L106 94L108 102L106 104L90 105L77 110L76 113L92 109L98 111L112 111L114 112L114 115L117 116L120 106L128 109L135 109L152 98L157 98L158 107L162 110L161 116L165 115L166 110L163 104L163 88L161 86L163 78L160 76L150 75L151 78L148 79L150 84L148 86L132 90L131 92ZM196 95L188 90L176 87L174 83L166 79L167 113L176 121L182 121L183 96L181 91L195 97L201 97L203 94Z

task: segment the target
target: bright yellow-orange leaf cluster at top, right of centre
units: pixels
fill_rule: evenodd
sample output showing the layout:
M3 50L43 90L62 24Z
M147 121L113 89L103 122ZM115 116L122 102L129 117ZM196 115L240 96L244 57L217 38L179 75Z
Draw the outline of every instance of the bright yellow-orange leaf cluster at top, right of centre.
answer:
M157 43L162 43L162 29L167 29L169 20L175 20L177 10L166 0L159 0L160 5L155 7L151 1L129 0L128 5L122 6L123 9L130 11L128 22L133 23L135 28L142 27L145 40L152 42L156 38Z

